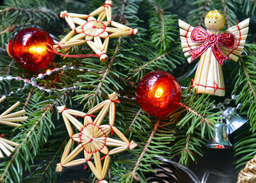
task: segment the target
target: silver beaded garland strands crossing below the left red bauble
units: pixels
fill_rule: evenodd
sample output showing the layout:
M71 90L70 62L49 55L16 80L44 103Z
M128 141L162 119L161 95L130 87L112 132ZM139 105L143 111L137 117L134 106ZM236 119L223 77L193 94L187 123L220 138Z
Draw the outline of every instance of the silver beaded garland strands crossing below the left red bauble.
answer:
M62 67L57 67L55 69L47 69L47 71L45 73L40 73L37 75L37 77L32 77L31 79L23 79L21 78L21 76L15 76L13 77L12 75L7 75L6 77L4 76L0 76L0 82L1 81L4 81L4 80L8 80L8 81L11 81L12 79L15 79L16 81L22 81L24 82L24 85L22 88L18 88L15 92L10 92L8 95L2 95L2 96L11 96L11 95L14 95L18 92L20 92L21 90L24 90L24 88L26 88L28 85L31 85L33 86L34 88L38 88L39 90L41 91L45 91L45 92L48 92L48 93L51 93L51 92L55 92L55 91L58 91L58 92L63 92L63 91L67 91L67 90L73 90L75 88L78 88L77 86L72 86L72 87L69 87L69 88L62 88L62 89L56 89L54 88L54 90L50 89L50 88L45 88L44 86L39 86L37 85L37 81L36 79L44 79L45 76L47 75L52 75L53 73L55 72L60 72L61 70L63 71L67 71L68 69L73 69L73 70L79 70L81 72L84 71L84 69L77 69L75 66L62 66Z

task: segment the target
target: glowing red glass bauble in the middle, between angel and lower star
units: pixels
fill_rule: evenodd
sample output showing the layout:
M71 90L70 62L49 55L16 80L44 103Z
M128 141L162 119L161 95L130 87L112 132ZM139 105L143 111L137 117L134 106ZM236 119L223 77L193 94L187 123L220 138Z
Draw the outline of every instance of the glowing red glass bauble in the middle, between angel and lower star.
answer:
M138 83L136 96L141 108L154 117L167 117L177 108L181 90L177 80L167 72L150 72Z

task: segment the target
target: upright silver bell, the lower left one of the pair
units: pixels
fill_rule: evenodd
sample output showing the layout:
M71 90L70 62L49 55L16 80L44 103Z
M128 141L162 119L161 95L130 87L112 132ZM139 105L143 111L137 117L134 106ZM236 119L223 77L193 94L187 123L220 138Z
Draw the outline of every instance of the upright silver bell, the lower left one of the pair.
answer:
M227 125L222 122L214 125L214 136L206 147L212 149L228 149L232 148L232 144L228 140Z

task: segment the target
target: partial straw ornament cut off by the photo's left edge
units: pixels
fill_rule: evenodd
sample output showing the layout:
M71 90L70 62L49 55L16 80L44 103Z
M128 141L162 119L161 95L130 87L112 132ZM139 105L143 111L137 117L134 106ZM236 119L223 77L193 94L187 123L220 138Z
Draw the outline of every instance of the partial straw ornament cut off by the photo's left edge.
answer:
M5 100L5 98L6 98L5 96L0 98L0 103L2 103L2 101ZM8 108L5 112L3 112L0 115L0 124L11 126L11 127L19 127L19 126L21 126L21 124L17 124L16 122L28 119L27 116L21 116L23 114L26 114L25 110L21 110L21 111L17 111L15 113L9 114L11 111L13 111L15 108L17 108L19 104L20 104L20 102L17 101L15 104L13 104L11 106L11 108ZM0 158L4 157L2 152L5 152L6 156L10 156L11 152L13 152L15 150L15 148L13 148L12 146L16 146L16 147L19 146L18 143L14 143L11 140L6 140L6 139L2 138L3 136L5 136L5 135L2 134L0 136Z

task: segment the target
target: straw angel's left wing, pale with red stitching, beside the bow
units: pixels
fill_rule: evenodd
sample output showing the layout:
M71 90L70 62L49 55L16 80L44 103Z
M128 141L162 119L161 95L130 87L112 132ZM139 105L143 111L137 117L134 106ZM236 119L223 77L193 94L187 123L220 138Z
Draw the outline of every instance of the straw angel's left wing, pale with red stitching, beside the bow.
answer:
M179 19L179 26L180 26L180 41L181 41L181 47L183 48L183 53L185 56L190 56L190 53L188 53L190 50L194 50L197 47L201 46L203 43L193 43L193 41L190 39L190 35L192 30L194 29L193 26L190 24L186 24L185 21L181 21ZM191 56L187 59L189 63L191 63Z

